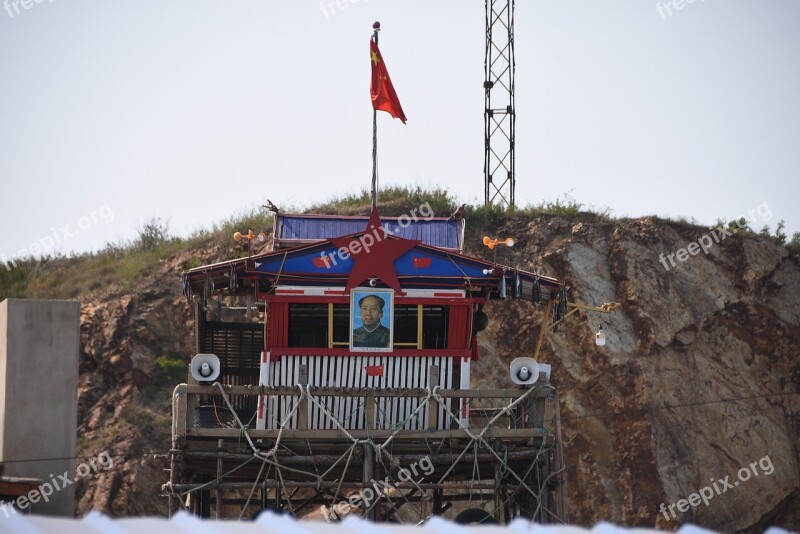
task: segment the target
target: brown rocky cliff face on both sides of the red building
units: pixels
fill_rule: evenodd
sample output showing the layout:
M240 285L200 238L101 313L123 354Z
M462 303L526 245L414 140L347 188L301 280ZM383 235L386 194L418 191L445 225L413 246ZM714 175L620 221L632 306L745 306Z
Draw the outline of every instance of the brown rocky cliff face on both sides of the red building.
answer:
M470 226L468 242L479 243ZM651 219L515 218L492 232L518 243L498 261L566 280L570 301L622 303L570 317L539 358L560 391L569 522L800 528L797 255L740 233L708 253L691 247L673 266L669 254L710 232ZM191 256L211 263L230 252L187 252L131 293L84 299L79 443L87 456L108 450L115 468L79 486L80 513L165 513L164 463L153 458L169 447L165 361L193 351L179 273ZM504 301L486 311L475 374L501 386L507 362L533 352L542 310ZM603 348L593 336L601 324ZM694 493L705 501L681 501Z

